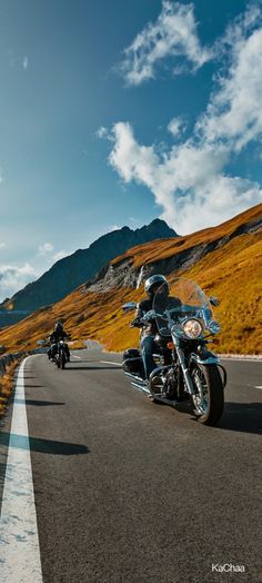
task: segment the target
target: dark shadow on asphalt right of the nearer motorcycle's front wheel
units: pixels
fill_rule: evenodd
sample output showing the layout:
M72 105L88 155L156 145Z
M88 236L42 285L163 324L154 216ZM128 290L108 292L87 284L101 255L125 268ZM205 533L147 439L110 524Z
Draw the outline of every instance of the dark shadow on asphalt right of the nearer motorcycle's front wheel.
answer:
M218 425L220 429L262 434L262 403L224 404L224 413Z

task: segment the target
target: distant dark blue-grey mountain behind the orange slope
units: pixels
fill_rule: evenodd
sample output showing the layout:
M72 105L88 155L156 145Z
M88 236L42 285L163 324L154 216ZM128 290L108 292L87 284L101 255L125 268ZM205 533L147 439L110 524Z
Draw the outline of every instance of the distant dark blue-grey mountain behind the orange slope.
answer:
M164 220L154 219L150 225L132 230L123 227L103 235L88 249L79 249L57 261L37 281L0 305L0 325L8 318L21 319L36 309L59 302L78 286L92 278L110 259L134 245L175 237L177 234ZM2 319L1 319L2 318Z

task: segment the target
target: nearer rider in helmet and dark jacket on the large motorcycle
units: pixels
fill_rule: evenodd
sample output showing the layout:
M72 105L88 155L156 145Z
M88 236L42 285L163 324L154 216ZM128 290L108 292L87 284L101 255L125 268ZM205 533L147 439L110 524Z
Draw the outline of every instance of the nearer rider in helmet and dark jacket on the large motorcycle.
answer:
M132 327L141 328L140 347L145 372L145 378L150 377L150 374L157 366L153 359L153 352L157 348L154 338L158 333L158 326L155 318L153 317L147 323L141 322L141 318L148 312L153 309L154 295L160 288L160 286L162 286L161 294L163 294L163 297L167 298L169 296L169 284L163 275L152 275L145 280L144 292L148 295L148 298L141 299L141 302L138 304L135 317L131 322ZM172 300L174 300L177 305L181 304L181 302L178 298L172 298Z

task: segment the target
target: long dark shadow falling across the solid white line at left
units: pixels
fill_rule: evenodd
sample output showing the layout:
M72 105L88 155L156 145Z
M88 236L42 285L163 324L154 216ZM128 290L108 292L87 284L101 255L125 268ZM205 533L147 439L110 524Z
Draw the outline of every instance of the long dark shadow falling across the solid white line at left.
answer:
M41 439L40 437L28 437L27 435L0 433L0 445L9 445L18 449L31 449L41 454L52 455L80 455L88 454L85 445L67 442L56 442L53 439Z

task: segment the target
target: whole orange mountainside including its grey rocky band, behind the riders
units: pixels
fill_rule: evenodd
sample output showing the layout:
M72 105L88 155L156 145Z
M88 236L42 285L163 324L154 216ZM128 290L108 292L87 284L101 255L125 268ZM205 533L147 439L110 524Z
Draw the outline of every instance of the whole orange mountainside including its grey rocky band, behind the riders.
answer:
M114 258L100 274L64 299L40 309L0 333L6 352L34 348L57 319L72 338L91 338L110 350L138 344L130 314L121 305L143 297L144 278L163 273L193 279L221 300L215 317L222 325L216 350L260 354L262 346L262 205L233 219L185 237L139 245ZM141 284L138 288L138 284Z

